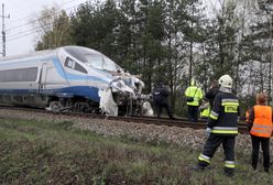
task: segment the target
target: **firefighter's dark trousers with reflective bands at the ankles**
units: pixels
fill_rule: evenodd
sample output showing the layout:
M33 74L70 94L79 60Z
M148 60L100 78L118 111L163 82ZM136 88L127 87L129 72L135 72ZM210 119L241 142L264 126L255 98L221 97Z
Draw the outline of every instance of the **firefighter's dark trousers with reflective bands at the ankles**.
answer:
M236 137L210 134L201 153L201 155L208 156L209 159L208 161L199 160L198 165L201 167L209 165L210 159L214 156L220 144L222 144L225 153L225 172L233 173L233 167L228 167L227 164L228 162L234 162Z

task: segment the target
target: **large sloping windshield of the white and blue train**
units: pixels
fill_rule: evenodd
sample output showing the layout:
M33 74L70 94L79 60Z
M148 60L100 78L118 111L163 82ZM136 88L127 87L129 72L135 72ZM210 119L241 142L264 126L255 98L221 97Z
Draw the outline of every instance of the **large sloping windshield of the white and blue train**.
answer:
M110 72L122 70L122 68L113 61L95 50L75 46L67 46L65 50L80 62L86 63L87 65L95 68Z

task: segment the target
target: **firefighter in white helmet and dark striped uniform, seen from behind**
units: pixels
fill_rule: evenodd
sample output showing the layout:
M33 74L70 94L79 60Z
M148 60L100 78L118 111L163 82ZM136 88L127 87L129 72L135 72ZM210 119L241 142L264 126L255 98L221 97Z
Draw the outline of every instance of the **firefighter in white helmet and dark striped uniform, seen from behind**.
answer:
M210 159L222 144L225 153L223 170L227 176L233 176L234 143L238 134L239 100L231 92L232 78L223 75L219 78L220 91L217 94L210 112L206 132L209 134L204 150L198 157L195 170L204 171L210 164Z

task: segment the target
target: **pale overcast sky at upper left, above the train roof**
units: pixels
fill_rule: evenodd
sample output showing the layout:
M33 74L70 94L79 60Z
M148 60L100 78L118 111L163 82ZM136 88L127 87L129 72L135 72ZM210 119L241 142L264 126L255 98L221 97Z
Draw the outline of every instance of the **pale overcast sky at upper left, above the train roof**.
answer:
M87 0L0 0L0 12L2 14L2 3L4 4L4 14L10 14L4 19L6 23L6 56L30 53L34 51L35 33L30 20L39 17L41 10L45 7L52 8L57 4L66 11L75 10L80 3ZM207 6L211 6L211 0ZM0 20L0 53L2 53L2 20ZM1 56L1 55L0 55Z

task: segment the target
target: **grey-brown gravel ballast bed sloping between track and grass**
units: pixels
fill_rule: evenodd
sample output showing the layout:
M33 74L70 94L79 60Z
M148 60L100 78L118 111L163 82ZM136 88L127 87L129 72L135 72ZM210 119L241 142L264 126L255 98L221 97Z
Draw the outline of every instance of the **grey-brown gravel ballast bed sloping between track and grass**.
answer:
M124 121L114 121L107 119L75 118L62 115L47 115L40 112L22 110L0 110L1 118L18 118L26 120L46 120L46 121L72 121L75 128L88 130L106 137L128 137L134 140L145 142L166 142L186 146L190 150L201 151L206 141L205 130L189 128L155 126L144 123L133 123ZM271 148L273 141L271 140ZM239 134L236 140L236 149L240 149L251 154L251 140L249 134ZM271 153L272 155L272 153Z

